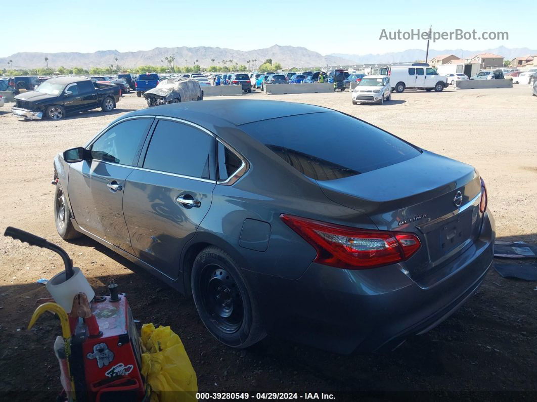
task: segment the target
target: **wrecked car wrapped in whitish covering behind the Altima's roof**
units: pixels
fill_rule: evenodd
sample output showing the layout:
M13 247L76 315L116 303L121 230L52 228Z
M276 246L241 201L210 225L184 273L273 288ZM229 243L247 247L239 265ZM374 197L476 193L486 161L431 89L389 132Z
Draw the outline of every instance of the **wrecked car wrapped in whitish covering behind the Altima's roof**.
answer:
M192 78L176 78L159 83L154 89L143 94L147 105L158 106L172 103L203 100L199 81Z

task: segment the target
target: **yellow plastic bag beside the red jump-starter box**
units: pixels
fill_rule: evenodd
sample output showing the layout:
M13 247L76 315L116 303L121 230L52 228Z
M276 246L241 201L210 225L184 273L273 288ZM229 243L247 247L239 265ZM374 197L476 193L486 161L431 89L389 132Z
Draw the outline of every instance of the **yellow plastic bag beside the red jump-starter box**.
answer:
M183 342L169 326L142 325L142 375L151 386L151 402L194 402L196 373Z

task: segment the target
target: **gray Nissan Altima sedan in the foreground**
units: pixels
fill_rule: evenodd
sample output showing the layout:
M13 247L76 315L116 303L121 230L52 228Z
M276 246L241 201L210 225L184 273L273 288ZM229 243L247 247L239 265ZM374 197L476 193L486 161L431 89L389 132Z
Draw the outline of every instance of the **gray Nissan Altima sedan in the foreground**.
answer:
M338 353L446 319L492 262L474 167L331 109L212 100L121 116L54 160L64 239L192 296L207 330Z

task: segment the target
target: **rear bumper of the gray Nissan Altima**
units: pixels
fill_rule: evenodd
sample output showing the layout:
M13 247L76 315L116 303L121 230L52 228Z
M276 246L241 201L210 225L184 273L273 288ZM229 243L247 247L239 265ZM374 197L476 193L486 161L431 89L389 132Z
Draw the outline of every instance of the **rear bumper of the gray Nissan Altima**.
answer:
M351 271L312 263L294 281L245 275L271 334L336 353L394 349L437 326L477 290L494 258L494 237L487 214L476 243L427 286L398 264Z

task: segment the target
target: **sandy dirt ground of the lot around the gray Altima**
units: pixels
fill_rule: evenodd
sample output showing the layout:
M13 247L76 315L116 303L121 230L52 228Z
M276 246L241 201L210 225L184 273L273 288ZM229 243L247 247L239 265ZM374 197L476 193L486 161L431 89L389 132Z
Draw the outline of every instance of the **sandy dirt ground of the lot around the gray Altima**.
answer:
M349 93L244 97L338 109L474 165L488 186L498 238L537 243L537 98L528 85L405 91L382 106L353 106ZM503 279L494 269L451 318L391 353L340 356L273 338L241 352L222 347L191 299L98 243L88 238L66 243L55 230L54 156L145 107L143 98L128 94L113 113L86 112L62 121L20 121L9 113L11 105L0 108L0 230L13 225L60 244L96 293L115 279L136 319L171 325L179 334L200 391L292 391L299 398L304 392L333 392L337 400L537 397L537 283ZM59 323L46 315L31 331L25 327L35 300L48 296L36 281L61 271L61 260L0 237L0 269L0 399L54 400L60 383L52 344Z

